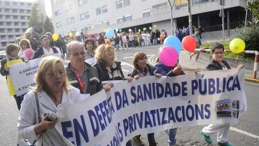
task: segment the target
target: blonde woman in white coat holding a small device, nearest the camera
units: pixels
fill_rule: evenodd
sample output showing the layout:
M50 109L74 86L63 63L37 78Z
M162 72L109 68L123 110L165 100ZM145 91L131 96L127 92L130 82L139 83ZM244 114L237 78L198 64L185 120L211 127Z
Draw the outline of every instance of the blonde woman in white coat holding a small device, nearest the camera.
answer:
M77 103L80 91L69 85L66 70L58 57L44 57L35 76L36 87L24 96L18 117L18 134L34 140L34 145L73 145L61 136L55 125L59 118L51 118L64 105Z

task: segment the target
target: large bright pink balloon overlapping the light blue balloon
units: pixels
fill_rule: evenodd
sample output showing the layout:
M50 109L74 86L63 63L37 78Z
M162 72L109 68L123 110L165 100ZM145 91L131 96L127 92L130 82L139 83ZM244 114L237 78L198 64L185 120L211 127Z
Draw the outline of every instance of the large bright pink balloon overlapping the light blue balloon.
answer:
M158 53L159 60L166 66L173 66L178 60L178 53L172 46L163 46Z

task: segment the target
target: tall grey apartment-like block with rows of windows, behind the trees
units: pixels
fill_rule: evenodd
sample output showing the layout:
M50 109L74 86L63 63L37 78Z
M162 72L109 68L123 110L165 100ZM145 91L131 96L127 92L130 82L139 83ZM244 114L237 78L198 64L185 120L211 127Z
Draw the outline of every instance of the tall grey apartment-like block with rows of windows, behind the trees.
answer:
M35 2L0 1L0 50L4 49L7 44L14 43L15 38L23 35L28 29L32 5L45 14L44 1L41 0Z

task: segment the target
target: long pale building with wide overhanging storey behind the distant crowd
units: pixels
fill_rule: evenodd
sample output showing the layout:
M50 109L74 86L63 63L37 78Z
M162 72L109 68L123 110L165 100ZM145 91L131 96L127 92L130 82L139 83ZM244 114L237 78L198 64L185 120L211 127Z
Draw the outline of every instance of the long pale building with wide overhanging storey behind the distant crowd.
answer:
M189 25L187 0L170 0L173 30ZM246 0L225 0L225 23L245 20ZM222 24L219 0L192 0L192 24L209 27ZM98 33L108 28L123 31L157 26L172 35L168 0L52 0L53 24L57 33ZM230 27L228 27L230 28ZM231 28L230 28L231 29Z

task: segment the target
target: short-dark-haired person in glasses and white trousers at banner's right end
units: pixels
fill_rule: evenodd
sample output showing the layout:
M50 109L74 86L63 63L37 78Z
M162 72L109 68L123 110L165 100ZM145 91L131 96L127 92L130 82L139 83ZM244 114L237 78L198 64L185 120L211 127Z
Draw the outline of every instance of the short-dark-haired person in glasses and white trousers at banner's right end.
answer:
M215 43L211 47L212 59L205 65L205 71L211 70L227 70L231 69L227 61L224 59L224 45L220 43ZM244 68L243 64L237 66L237 68ZM200 134L203 136L207 143L212 143L210 135L218 133L217 142L218 145L222 146L233 146L231 143L228 143L228 131L230 129L229 123L223 124L209 124L204 127Z

